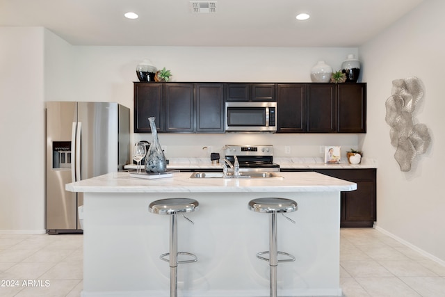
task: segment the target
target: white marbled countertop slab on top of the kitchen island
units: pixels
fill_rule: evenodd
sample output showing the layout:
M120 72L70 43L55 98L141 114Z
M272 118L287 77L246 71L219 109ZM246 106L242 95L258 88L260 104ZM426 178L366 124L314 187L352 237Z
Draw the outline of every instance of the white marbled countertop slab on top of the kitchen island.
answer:
M192 179L191 172L172 177L140 179L129 172L113 172L66 184L67 191L95 193L240 193L240 192L332 192L354 191L357 184L317 172L280 172L283 178Z

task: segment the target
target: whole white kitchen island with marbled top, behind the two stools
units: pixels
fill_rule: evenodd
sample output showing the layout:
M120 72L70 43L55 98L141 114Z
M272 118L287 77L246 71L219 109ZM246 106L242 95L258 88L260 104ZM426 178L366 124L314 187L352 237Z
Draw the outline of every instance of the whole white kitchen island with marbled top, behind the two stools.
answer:
M198 262L179 264L179 296L259 297L269 294L268 215L248 210L254 198L290 198L298 211L278 216L278 250L296 262L278 266L279 296L341 296L340 192L357 185L316 172L280 172L282 179L164 179L110 173L67 184L84 192L83 295L169 296L169 217L150 214L150 202L195 198L200 209L178 219L179 250Z

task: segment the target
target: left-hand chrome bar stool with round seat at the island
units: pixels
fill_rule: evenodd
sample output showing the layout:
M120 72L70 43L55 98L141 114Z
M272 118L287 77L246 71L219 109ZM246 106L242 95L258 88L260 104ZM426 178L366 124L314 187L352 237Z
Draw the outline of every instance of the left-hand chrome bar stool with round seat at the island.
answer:
M156 200L149 204L152 214L170 215L170 247L169 252L160 256L161 260L170 264L170 297L177 297L177 266L178 264L197 262L197 257L190 252L178 252L177 214L188 213L200 208L199 202L188 198L168 198ZM182 214L184 216L184 214ZM184 216L186 218L186 216ZM193 224L189 218L186 218ZM178 255L186 255L188 259L178 260ZM168 258L167 258L168 256Z

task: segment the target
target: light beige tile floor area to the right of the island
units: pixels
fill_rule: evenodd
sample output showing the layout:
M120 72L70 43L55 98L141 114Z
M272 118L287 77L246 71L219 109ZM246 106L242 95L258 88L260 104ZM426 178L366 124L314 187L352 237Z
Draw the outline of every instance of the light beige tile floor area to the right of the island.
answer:
M445 266L372 228L340 234L343 296L445 296Z

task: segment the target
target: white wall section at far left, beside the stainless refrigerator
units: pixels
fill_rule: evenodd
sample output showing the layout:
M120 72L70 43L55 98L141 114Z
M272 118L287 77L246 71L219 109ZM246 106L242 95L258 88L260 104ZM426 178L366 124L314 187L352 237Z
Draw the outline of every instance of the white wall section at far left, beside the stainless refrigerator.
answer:
M44 231L44 29L0 27L0 229Z

